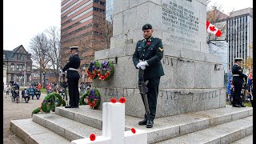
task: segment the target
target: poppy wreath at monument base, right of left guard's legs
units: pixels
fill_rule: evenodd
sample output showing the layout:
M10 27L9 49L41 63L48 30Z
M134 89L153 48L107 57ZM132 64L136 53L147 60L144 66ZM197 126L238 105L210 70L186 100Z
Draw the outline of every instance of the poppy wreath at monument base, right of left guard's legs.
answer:
M90 90L86 98L88 100L87 103L91 109L98 109L98 106L101 104L101 94L97 89Z

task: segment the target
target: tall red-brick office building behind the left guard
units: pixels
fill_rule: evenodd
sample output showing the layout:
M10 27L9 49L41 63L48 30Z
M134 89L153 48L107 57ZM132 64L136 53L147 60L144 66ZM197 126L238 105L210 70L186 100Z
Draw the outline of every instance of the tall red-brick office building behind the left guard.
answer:
M95 50L106 48L102 34L106 18L106 0L62 0L61 7L64 61L69 58L69 47L78 46L81 65L84 65L94 58Z

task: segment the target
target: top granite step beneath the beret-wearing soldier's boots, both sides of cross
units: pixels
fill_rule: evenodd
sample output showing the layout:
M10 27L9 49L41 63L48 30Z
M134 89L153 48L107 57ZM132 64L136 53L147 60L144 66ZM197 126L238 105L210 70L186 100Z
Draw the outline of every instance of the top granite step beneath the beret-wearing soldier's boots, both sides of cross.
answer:
M78 109L65 109L58 107L55 114L82 122L88 126L102 129L102 110L92 110L88 106L79 106ZM165 118L156 118L154 128L138 126L141 118L126 115L126 130L134 127L148 133L148 142L161 142L194 131L203 130L210 126L217 126L226 122L232 122L240 118L246 118L253 114L251 107L226 106L213 110L199 111L189 114L179 114Z

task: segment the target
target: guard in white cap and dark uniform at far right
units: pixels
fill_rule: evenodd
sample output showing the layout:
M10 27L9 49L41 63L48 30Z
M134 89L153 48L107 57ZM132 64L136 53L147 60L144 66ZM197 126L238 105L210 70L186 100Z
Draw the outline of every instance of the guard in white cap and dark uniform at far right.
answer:
M234 58L234 66L232 67L233 85L234 85L234 98L232 106L246 107L242 104L241 90L244 82L243 78L247 78L246 74L242 74L242 58Z

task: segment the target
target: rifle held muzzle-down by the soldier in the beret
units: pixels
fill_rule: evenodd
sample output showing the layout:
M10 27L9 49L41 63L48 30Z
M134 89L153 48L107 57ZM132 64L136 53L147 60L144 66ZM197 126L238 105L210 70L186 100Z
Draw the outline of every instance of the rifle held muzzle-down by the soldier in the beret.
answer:
M146 82L144 82L144 70L140 69L142 71L142 82L140 82L140 84L138 85L138 89L139 89L139 94L142 95L142 98L144 100L144 104L145 104L145 110L146 110L146 118L147 120L150 119L150 106L149 106L149 101L147 99L147 92L149 91L149 89L146 87L146 85L149 83L149 80L146 80Z

